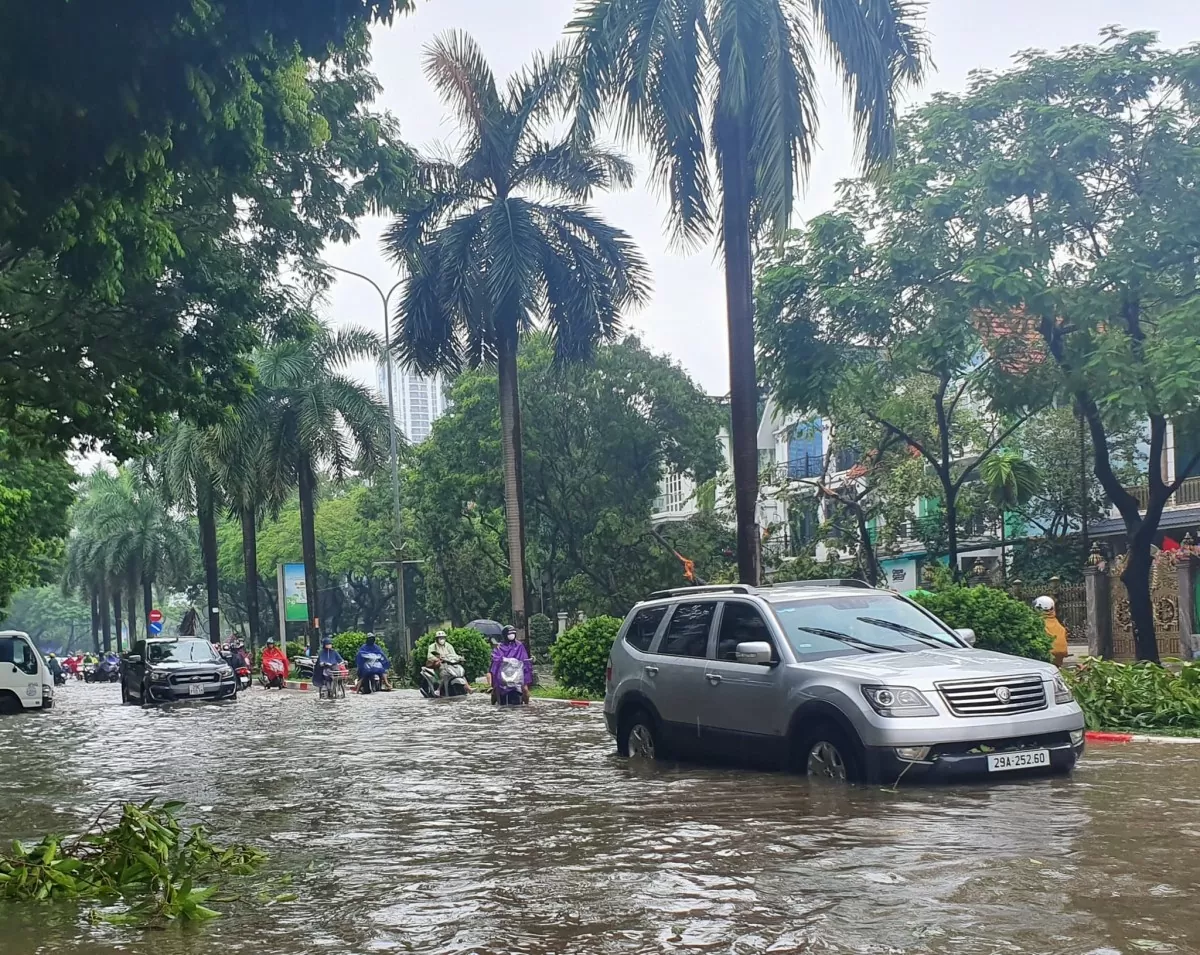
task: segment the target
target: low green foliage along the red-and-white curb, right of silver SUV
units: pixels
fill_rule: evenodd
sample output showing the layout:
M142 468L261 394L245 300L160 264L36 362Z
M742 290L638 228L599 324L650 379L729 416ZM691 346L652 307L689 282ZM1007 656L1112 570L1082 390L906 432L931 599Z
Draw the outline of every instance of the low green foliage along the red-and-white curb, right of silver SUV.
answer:
M1200 729L1200 666L1088 657L1063 674L1090 729Z

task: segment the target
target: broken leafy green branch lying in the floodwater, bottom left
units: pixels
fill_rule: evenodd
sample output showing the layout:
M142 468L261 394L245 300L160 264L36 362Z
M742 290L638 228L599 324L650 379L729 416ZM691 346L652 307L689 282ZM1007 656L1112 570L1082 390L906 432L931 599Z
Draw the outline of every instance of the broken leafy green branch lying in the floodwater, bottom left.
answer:
M101 825L101 813L78 837L13 842L10 853L0 854L0 899L122 902L124 912L92 918L142 925L216 918L220 913L206 902L220 887L197 881L253 872L266 855L248 845L220 846L203 827L185 827L182 805L126 804L115 824Z

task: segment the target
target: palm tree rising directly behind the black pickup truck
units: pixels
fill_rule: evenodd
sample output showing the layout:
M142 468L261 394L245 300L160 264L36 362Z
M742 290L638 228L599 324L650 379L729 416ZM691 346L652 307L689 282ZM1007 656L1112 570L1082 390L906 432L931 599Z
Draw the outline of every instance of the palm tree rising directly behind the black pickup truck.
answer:
M158 444L152 461L146 462L154 481L169 504L194 510L200 529L200 561L209 601L209 638L221 636L221 588L217 575L217 510L222 506L222 488L215 466L215 426L202 427L180 419Z

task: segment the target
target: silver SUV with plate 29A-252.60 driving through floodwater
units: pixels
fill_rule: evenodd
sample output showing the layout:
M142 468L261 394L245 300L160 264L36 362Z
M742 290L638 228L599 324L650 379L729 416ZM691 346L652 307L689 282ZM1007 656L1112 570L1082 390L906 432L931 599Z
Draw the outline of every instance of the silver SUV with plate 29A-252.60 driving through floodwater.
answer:
M1084 714L1062 677L973 641L860 581L664 590L617 635L605 719L624 756L882 782L1069 771Z

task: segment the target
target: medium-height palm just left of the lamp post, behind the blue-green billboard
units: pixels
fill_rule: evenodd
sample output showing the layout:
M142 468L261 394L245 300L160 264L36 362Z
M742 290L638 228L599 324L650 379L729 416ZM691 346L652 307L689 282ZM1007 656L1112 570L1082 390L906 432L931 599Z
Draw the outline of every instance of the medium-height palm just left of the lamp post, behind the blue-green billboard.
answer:
M383 463L391 427L388 408L344 373L353 361L382 355L383 342L368 331L314 324L304 337L276 342L256 356L260 388L246 414L264 422L266 486L300 489L300 543L314 635L320 630L317 474L328 470L342 482L354 470L372 472Z

